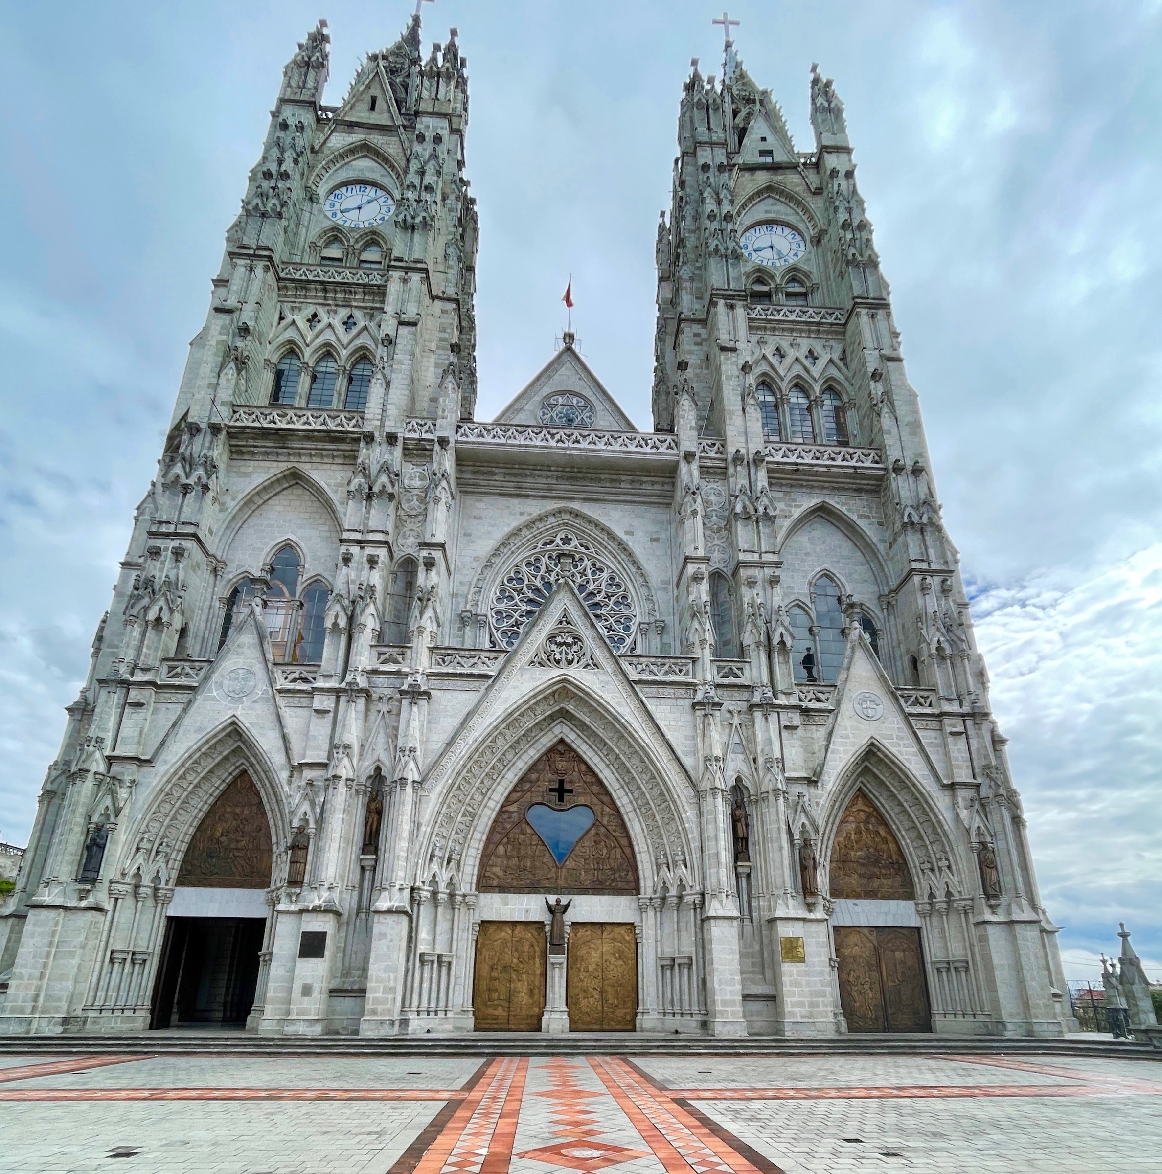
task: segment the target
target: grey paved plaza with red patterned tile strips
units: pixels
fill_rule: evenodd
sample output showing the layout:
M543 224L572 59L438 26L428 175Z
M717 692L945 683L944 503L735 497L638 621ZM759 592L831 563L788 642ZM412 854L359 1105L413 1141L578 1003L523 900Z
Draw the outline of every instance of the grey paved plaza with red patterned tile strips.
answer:
M0 1055L0 1174L1157 1174L1160 1154L1162 1062L1130 1059Z

